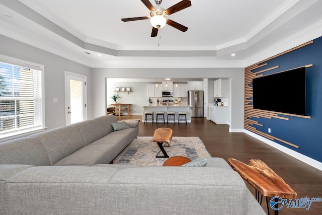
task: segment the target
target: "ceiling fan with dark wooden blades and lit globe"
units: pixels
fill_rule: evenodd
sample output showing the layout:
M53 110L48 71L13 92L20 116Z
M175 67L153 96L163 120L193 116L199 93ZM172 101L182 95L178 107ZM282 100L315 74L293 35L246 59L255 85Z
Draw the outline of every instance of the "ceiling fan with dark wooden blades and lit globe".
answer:
M188 28L186 26L183 26L183 25L181 25L175 21L172 21L170 19L167 19L167 17L171 14L174 14L178 11L181 11L185 8L190 7L191 6L190 0L183 0L168 9L164 9L164 8L160 7L162 0L154 0L157 7L153 7L152 4L149 2L149 0L141 0L141 2L150 10L150 17L123 18L121 20L123 22L129 22L129 21L149 19L150 23L152 25L151 37L156 37L158 29L163 28L166 24L168 24L168 25L170 25L182 32L186 32L188 30Z

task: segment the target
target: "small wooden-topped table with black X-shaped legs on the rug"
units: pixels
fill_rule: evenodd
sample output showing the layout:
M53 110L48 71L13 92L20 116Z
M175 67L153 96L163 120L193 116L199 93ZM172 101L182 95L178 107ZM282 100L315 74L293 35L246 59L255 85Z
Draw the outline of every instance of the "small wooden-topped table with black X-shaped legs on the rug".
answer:
M153 142L156 142L160 148L160 151L156 154L155 158L169 158L165 148L163 148L162 144L166 142L170 147L169 143L172 139L172 129L171 128L157 128L153 134ZM158 156L158 154L162 152L163 156Z

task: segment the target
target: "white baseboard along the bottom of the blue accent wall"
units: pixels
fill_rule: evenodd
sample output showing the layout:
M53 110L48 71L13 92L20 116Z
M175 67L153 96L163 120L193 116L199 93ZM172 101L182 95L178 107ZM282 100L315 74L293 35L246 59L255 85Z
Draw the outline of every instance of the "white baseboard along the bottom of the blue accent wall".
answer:
M274 142L274 141L272 141L270 139L267 139L267 138L265 138L265 137L263 137L261 135L258 135L256 133L253 133L253 132L251 132L251 131L249 131L247 129L244 129L244 132L247 133L250 136L255 137L256 139L259 139L259 140L265 142L265 144L270 145L271 147L274 147L275 149L278 149L279 151L284 152L287 155L290 155L293 158L296 158L297 160L300 160L300 161L302 161L302 162L304 162L304 163L306 163L306 164L308 164L308 165L310 165L310 166L322 171L322 163L321 162L316 161L316 160L314 160L314 159L312 159L310 157L307 157L305 155L302 155L302 154L300 154L298 152L295 152L295 151L293 151L293 150L291 150L289 148L281 146L281 145L277 144L276 142Z

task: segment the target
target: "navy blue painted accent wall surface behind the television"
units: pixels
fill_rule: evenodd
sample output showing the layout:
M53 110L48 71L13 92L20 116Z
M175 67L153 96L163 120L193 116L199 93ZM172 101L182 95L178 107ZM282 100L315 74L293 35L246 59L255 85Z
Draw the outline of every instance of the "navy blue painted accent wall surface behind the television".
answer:
M282 114L279 114L279 116L287 117L289 120L253 117L253 120L264 125L263 127L254 125L254 127L259 131L295 144L299 146L299 149L274 140L278 144L322 162L322 37L313 40L313 43L309 45L263 63L266 62L268 65L252 70L253 73L279 65L279 68L264 72L263 74L265 76L279 71L313 64L312 67L305 68L306 115L311 116L311 119ZM292 80L289 81L291 82ZM268 133L268 128L271 128L271 133Z

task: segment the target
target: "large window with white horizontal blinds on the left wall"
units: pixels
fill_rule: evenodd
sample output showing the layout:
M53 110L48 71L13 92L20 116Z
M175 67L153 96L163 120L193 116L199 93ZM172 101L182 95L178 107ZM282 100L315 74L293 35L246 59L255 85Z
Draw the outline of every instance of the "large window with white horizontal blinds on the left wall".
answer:
M44 127L43 69L0 58L0 139Z

